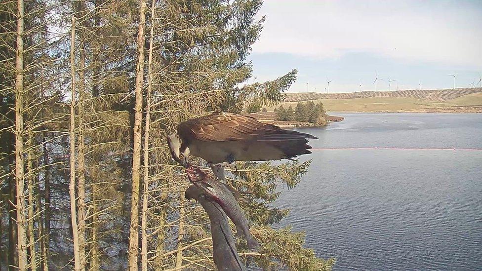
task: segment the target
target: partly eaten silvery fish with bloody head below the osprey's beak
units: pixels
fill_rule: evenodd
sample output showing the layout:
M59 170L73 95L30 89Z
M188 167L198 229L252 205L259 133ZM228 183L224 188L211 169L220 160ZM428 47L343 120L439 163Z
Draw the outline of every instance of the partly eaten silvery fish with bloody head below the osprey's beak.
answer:
M249 232L248 221L242 212L240 204L236 201L236 198L226 185L209 177L209 175L202 172L197 166L189 165L189 167L186 168L186 173L189 181L196 187L202 189L203 194L205 194L209 200L221 206L226 215L235 224L238 234L244 235L248 249L251 251L259 250L260 245L258 241L254 239L251 232Z

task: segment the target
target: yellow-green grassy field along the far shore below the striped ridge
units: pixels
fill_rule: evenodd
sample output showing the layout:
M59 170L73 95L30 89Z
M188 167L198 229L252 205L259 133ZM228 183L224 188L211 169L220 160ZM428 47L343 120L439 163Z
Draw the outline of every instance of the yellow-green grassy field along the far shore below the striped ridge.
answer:
M463 95L443 102L408 97L317 99L313 101L322 102L326 111L482 113L482 92ZM283 106L292 106L293 108L296 104L297 102L282 102Z

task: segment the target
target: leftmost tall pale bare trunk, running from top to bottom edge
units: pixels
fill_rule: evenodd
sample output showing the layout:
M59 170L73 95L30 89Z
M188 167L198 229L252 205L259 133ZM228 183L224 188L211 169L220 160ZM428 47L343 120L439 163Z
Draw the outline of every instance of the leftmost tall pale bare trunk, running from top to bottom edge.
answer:
M17 242L18 242L18 269L27 270L27 242L25 235L25 185L24 176L24 150L23 150L23 35L24 35L24 3L17 1L17 55L15 79L15 178L17 186Z

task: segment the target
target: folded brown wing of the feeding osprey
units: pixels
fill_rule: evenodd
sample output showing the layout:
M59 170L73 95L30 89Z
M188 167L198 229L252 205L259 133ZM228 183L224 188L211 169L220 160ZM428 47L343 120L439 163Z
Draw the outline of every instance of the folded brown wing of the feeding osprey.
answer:
M209 141L279 141L316 138L309 134L284 130L262 123L254 117L233 113L213 113L182 122L178 134L185 139Z

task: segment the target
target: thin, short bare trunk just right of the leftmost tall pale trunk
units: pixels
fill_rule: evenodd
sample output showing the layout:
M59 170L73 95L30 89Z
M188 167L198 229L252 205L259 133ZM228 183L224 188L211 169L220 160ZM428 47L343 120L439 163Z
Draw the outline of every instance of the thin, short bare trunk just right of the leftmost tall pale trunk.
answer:
M29 135L27 140L27 147L29 148L28 155L27 155L27 180L28 180L28 188L29 188L29 197L28 197L28 236L29 236L29 250L30 250L30 267L32 270L37 270L37 259L36 259L36 251L35 251L35 229L34 229L34 180L35 175L33 173L33 161L34 158L33 148L32 148L32 134Z

